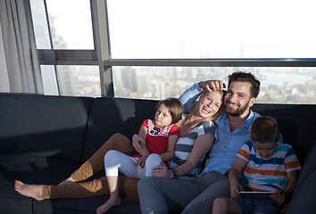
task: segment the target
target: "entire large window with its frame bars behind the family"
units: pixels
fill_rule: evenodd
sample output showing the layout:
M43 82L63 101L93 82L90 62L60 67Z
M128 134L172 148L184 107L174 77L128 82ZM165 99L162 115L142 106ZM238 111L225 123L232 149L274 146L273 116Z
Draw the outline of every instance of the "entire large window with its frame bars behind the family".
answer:
M313 1L29 1L46 95L164 99L242 70L257 103L316 103Z

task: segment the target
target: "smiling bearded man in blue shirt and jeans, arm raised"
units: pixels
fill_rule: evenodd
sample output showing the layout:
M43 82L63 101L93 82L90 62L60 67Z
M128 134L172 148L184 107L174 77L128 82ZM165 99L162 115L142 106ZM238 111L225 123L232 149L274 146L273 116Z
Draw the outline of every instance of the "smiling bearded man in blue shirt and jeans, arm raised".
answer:
M204 81L191 86L179 97L185 110L195 103L203 89L222 90L218 80ZM226 112L215 121L216 141L202 173L192 180L146 177L138 183L142 213L210 213L212 202L218 197L229 197L228 172L237 160L237 152L250 141L250 128L260 117L251 111L259 94L260 81L251 73L229 75L229 88L224 97Z

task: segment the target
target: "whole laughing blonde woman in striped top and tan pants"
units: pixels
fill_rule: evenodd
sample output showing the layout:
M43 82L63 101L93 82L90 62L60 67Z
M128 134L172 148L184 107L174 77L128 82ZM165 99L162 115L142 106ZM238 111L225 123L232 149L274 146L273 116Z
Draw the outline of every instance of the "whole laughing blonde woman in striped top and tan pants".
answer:
M188 178L193 177L198 173L201 164L197 163L201 163L205 153L209 151L214 140L214 124L210 120L217 119L224 111L222 101L222 91L205 91L200 95L199 102L191 108L187 117L181 119L177 123L180 131L180 138L176 145L176 158L172 160L170 165L173 169L168 170L162 164L153 170L155 176ZM193 137L194 140L192 140L192 136L195 136ZM18 186L16 187L24 189L24 192L26 191L26 188L28 188L29 195L27 196L33 197L38 201L43 200L44 198L85 198L109 194L106 177L90 182L77 182L92 176L92 174L98 170L104 169L104 158L102 155L104 156L106 152L112 149L118 150L118 145L121 146L119 148L121 152L132 152L134 146L138 152L142 153L139 144L133 142L133 146L131 146L129 139L118 138L117 136L114 138L115 139L109 139L109 141L105 143L81 168L60 185L24 185L17 183L16 185ZM181 147L183 147L181 144L186 144L187 140L190 142L188 147L191 149L189 151L180 151ZM102 157L101 160L100 157ZM125 190L126 196L136 198L136 184L138 180L139 179L120 177L120 190ZM50 194L45 195L44 197L44 192ZM124 194L124 192L121 192L121 194Z

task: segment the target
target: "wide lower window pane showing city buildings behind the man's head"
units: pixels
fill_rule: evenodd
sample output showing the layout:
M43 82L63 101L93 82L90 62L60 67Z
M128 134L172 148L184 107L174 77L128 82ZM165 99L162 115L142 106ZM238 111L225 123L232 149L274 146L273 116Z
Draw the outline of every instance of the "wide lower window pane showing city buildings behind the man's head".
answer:
M254 73L261 81L257 103L316 103L314 68L139 68L113 69L114 94L121 97L164 99L179 97L195 82L220 79L228 86L234 71Z

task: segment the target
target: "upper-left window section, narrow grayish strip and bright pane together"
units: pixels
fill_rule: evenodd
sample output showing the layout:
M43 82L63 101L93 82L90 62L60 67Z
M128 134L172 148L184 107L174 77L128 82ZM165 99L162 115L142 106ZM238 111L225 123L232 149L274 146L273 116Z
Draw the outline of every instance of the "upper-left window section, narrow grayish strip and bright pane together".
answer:
M37 48L95 49L92 33L91 10L88 0L30 0Z

